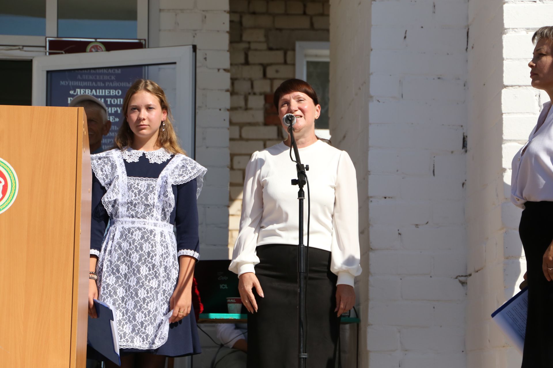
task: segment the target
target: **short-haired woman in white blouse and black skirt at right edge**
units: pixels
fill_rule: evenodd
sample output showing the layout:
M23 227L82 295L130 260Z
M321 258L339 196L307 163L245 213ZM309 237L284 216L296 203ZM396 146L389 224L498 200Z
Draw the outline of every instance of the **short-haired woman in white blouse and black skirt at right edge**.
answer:
M532 87L553 99L553 26L538 29L530 67ZM543 110L528 142L513 158L511 200L523 208L519 233L526 256L528 320L523 368L553 367L553 111Z

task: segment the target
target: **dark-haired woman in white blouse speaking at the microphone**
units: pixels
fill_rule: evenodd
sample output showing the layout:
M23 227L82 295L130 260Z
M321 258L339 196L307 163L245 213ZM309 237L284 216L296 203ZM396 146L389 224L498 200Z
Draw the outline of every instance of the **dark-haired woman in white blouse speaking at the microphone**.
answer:
M334 366L340 316L355 303L353 281L361 273L355 168L345 151L315 135L321 106L308 83L283 82L274 104L280 119L296 116L294 137L301 162L309 165L307 366ZM290 135L254 152L246 167L240 231L229 269L239 275L240 296L250 312L250 368L298 363L298 186L290 184L297 174L289 152ZM307 206L304 224L306 240Z

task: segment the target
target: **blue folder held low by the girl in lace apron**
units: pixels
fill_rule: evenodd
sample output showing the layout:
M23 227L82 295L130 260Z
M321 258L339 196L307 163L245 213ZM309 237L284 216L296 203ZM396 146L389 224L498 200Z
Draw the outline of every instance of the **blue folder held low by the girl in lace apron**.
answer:
M121 366L117 319L111 307L106 303L94 300L98 318L88 316L88 345L118 366Z

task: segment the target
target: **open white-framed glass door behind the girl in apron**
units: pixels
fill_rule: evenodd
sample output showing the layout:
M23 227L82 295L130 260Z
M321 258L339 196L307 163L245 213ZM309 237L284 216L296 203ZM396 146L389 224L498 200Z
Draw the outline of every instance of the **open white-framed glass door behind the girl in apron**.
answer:
M193 46L35 57L32 103L67 106L80 94L100 99L112 123L102 140L102 148L109 149L121 124L127 89L138 78L152 79L165 90L182 148L194 158L195 60Z

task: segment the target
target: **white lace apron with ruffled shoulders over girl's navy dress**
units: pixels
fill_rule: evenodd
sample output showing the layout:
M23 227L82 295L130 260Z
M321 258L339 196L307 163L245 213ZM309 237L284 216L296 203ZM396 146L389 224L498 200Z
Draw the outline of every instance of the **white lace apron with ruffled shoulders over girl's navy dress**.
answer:
M138 161L129 152L111 150L92 156L92 169L107 190L102 204L110 225L101 251L91 250L91 254L98 255L99 299L116 310L119 346L156 349L169 332L169 299L178 281L178 256L199 257L194 250L176 250L169 223L175 207L171 185L196 178L197 196L206 169L177 154L159 178L127 177L123 155L127 161Z

